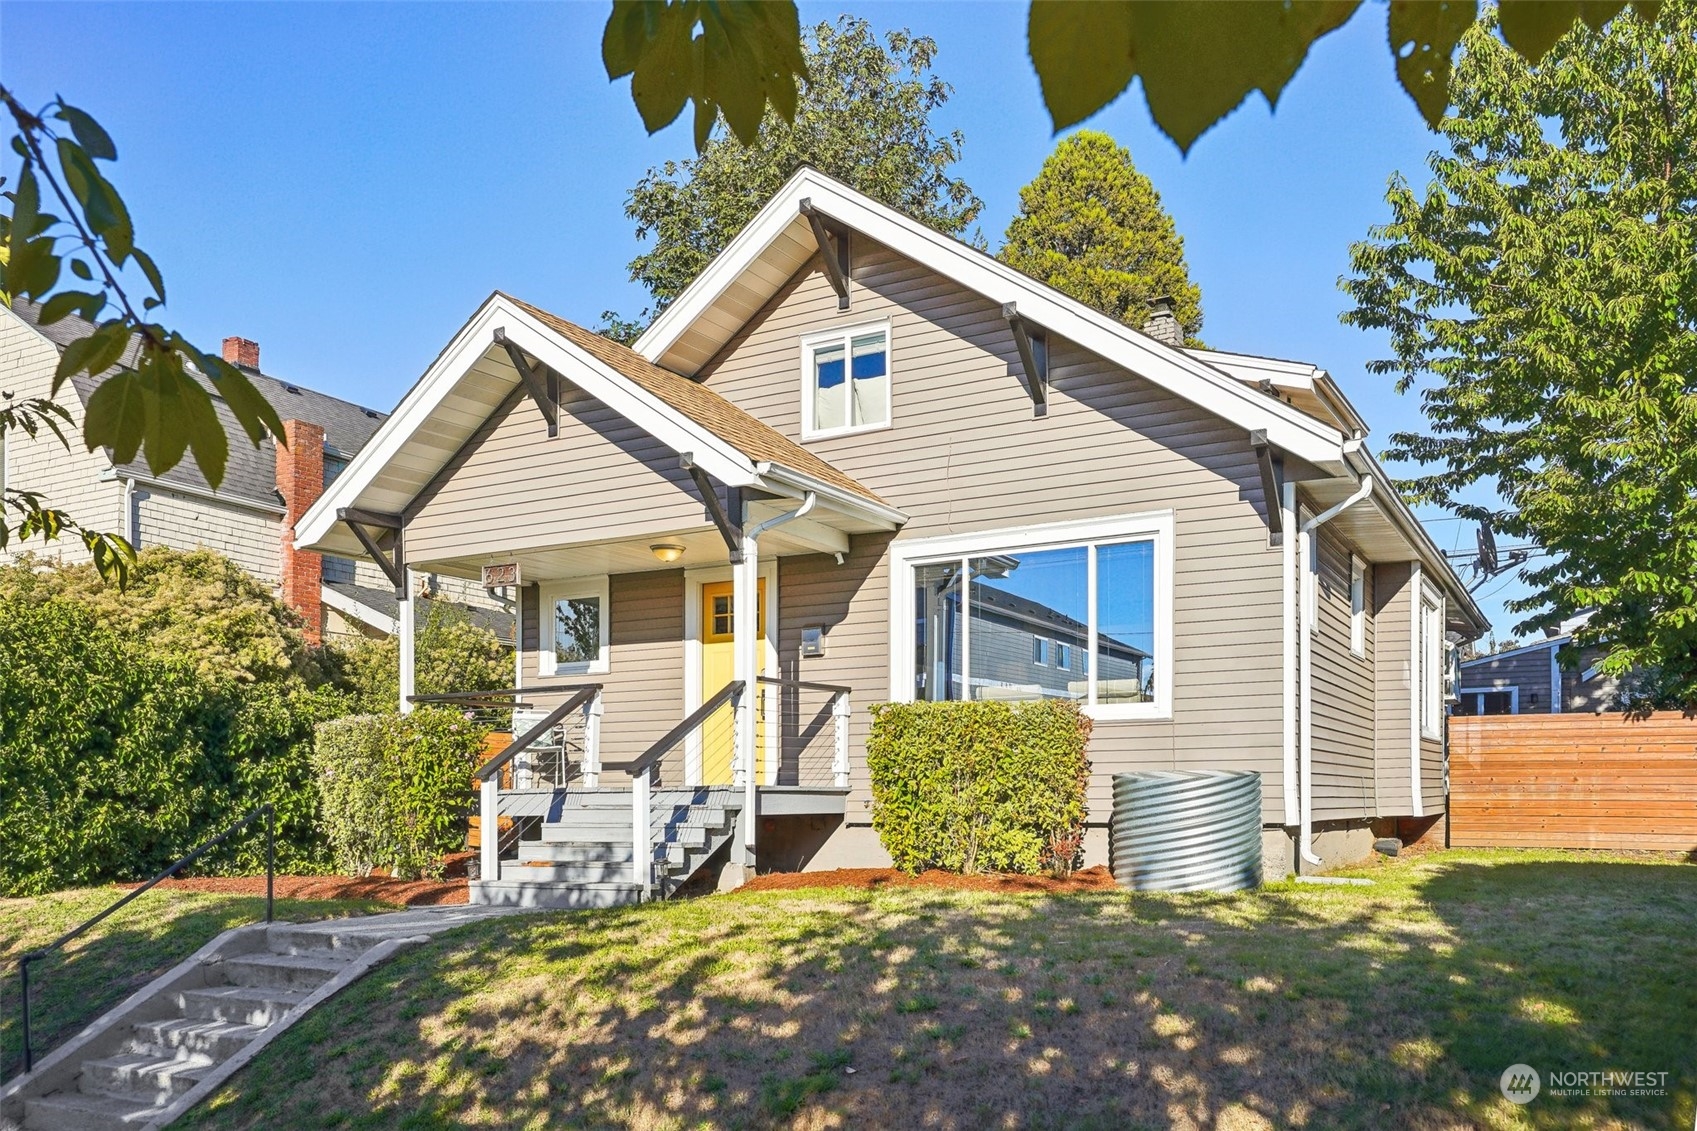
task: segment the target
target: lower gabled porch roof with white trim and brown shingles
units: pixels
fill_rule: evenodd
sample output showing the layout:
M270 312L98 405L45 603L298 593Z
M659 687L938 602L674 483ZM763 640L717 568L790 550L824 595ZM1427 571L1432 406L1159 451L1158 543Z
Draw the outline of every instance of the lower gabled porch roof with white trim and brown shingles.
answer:
M728 487L820 499L842 530L894 530L906 515L718 392L507 294L460 328L370 443L295 525L297 545L361 555L343 509L411 518L429 487L524 377L496 335Z

